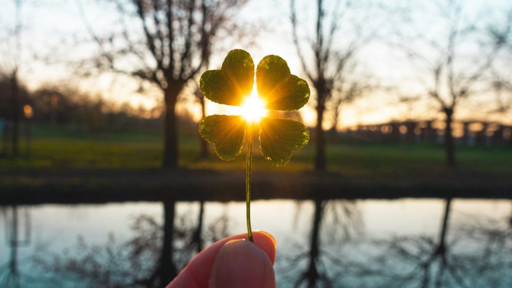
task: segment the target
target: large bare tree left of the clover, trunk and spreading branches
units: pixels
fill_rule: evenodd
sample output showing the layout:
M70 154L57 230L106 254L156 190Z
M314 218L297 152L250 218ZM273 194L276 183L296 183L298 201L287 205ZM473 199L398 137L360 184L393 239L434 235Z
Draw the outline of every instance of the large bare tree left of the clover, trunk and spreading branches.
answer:
M176 103L204 67L218 32L246 0L115 0L120 32L99 35L88 24L99 55L89 67L136 77L164 96L164 168L178 165ZM133 18L140 33L133 29ZM126 66L126 61L134 65Z

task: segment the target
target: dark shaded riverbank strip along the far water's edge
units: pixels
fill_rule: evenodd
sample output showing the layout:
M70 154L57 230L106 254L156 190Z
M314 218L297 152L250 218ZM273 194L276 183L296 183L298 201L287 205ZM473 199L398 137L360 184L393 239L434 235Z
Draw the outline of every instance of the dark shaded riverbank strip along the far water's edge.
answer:
M243 201L244 173L177 169L4 173L0 205L123 201ZM512 199L512 179L464 170L414 178L354 178L340 173L255 172L253 199Z

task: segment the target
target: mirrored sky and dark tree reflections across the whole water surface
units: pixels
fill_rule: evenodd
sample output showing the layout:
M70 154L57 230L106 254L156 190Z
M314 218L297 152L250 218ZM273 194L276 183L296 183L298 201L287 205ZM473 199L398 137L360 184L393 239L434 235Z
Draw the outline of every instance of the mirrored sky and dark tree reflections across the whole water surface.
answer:
M254 222L272 221L260 222L259 227L268 227L278 238L275 264L278 287L512 286L510 202L506 205L500 202L500 217L487 217L483 208L477 209L478 203L453 199L430 204L424 200L380 201L378 205L392 207L388 210L379 209L375 202L379 201L315 199L297 205L295 213L292 201L255 203ZM419 225L423 218L408 220L411 213L401 212L397 213L399 216L391 215L390 210L397 209L393 203L412 207L406 211L426 207L429 210L423 216L424 221L429 221L435 231L424 226L411 229L408 224ZM82 236L74 245L69 241L59 242L68 233L63 231L51 239L53 249L38 243L48 239L38 238L41 232L30 229L30 209L4 209L8 253L0 250L0 264L3 264L0 279L6 281L6 275L11 276L8 284L0 282L0 286L161 287L172 278L172 270L180 271L204 246L244 230L243 221L235 231L230 229L242 215L243 203L151 205L152 209L143 207L129 218L122 216L126 224L114 221L116 225L129 227L127 235L122 227L114 226L108 239L99 243L91 231L97 231L102 222L111 219L99 212L100 206L86 207L82 212L89 211L85 213L87 216L71 224L76 225L76 231L82 231ZM495 206L486 207L487 214L498 215ZM31 209L39 211L32 212L37 228L41 212L38 208ZM108 209L111 214L121 211ZM125 209L137 210L134 204ZM461 212L464 209L466 213ZM159 212L144 213L148 210ZM84 229L87 225L83 222L97 214L93 230ZM278 222L279 225L271 225ZM56 225L55 221L49 225L46 229ZM391 227L392 234L375 233L378 226ZM17 235L15 241L11 235ZM32 243L32 251L20 250L25 243Z

